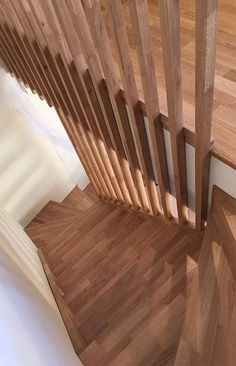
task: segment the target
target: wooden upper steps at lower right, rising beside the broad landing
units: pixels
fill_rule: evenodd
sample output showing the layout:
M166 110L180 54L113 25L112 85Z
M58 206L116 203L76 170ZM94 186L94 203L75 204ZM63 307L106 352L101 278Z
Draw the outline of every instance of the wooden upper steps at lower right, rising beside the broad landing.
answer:
M236 361L236 200L214 187L212 201L175 366Z

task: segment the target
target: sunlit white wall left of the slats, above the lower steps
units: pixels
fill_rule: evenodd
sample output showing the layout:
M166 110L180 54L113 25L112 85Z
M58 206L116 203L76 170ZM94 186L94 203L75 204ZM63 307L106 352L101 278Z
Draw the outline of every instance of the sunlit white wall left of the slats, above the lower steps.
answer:
M54 110L0 63L0 207L22 226L88 177Z

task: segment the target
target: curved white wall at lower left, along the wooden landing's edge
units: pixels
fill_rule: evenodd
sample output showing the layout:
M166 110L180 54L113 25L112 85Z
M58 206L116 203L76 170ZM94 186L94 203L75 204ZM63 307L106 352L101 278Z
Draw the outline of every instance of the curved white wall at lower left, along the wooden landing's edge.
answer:
M36 248L0 209L0 364L79 366Z

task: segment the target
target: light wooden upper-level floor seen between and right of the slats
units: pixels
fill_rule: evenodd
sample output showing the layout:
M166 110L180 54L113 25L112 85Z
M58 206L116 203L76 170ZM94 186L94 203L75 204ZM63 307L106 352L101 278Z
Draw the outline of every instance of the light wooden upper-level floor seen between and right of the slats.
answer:
M100 0L104 4L104 0ZM128 0L122 1L128 29L130 51L140 99L143 101L141 79L129 15ZM161 112L167 115L165 81L161 51L158 1L148 0L156 75ZM195 0L180 1L184 125L194 131L195 75ZM106 14L103 5L104 14ZM236 3L219 1L219 28L216 58L213 138L216 155L236 167Z

